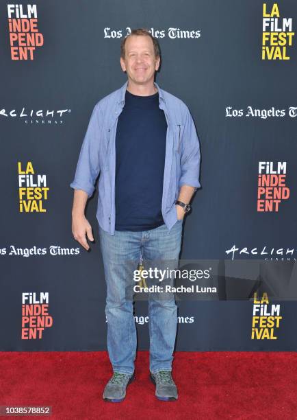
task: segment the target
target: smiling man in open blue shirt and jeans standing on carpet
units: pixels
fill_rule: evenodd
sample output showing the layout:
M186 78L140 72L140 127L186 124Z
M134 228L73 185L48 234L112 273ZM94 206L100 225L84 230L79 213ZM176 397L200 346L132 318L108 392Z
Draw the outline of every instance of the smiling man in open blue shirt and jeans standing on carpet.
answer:
M200 187L200 148L190 112L154 82L160 65L157 40L147 30L133 30L122 40L120 65L128 80L94 107L70 184L75 189L73 236L88 250L86 235L94 238L84 211L100 172L96 218L107 284L107 349L114 371L103 399L113 402L125 398L134 379L133 270L140 255L144 264L169 261L170 268L177 268L183 217ZM175 400L171 371L177 305L172 293L165 299L150 294L148 315L155 395Z

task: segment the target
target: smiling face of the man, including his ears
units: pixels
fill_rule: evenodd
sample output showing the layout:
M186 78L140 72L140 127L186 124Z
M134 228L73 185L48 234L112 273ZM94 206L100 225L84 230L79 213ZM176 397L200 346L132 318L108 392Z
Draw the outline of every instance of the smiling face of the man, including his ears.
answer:
M132 35L125 44L125 59L120 58L122 71L135 84L148 84L154 80L160 58L155 57L153 40L149 36Z

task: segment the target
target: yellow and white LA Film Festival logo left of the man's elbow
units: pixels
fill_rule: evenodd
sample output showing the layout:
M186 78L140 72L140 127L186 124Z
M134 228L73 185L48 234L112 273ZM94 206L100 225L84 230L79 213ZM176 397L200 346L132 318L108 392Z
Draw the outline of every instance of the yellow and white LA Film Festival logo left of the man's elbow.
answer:
M25 169L18 162L18 198L20 213L45 213L43 203L48 199L47 176L35 174L31 162Z

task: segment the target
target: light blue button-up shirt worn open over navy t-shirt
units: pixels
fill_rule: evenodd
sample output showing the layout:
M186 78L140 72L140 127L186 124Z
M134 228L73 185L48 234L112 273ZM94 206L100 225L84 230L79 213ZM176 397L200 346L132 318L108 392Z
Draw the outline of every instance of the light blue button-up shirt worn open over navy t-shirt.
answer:
M96 219L110 235L114 235L116 222L116 126L125 104L127 84L125 82L120 89L95 105L81 145L75 179L70 183L70 187L82 189L90 197L100 172ZM188 107L179 98L160 89L157 83L154 84L159 91L159 108L164 110L167 121L162 215L170 230L177 222L175 201L181 186L190 185L195 189L201 186L200 146Z

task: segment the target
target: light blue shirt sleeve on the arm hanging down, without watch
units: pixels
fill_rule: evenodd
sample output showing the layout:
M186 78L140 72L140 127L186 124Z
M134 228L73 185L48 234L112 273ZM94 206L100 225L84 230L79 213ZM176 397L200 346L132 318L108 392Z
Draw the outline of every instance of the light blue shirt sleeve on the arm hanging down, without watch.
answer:
M94 183L100 172L99 166L99 144L101 133L101 110L96 104L92 111L88 129L81 145L79 160L75 172L75 178L70 187L86 191L88 197L94 192Z

